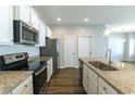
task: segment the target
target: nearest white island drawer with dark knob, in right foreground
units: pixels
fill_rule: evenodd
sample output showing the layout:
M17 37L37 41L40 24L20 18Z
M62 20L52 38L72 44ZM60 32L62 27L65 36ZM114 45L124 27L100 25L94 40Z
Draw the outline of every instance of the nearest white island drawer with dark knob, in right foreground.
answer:
M99 78L99 88L107 94L118 94L118 92L101 78Z

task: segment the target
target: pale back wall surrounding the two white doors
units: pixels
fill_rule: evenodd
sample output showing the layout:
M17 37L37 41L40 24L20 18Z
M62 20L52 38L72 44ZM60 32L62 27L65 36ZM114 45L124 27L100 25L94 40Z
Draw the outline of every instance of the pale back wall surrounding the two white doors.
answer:
M53 37L60 39L60 65L64 65L64 36L68 34L74 35L75 39L75 65L78 66L77 56L77 36L78 35L91 35L93 36L93 55L103 56L105 50L108 47L108 37L103 36L105 26L96 25L53 25L51 26Z

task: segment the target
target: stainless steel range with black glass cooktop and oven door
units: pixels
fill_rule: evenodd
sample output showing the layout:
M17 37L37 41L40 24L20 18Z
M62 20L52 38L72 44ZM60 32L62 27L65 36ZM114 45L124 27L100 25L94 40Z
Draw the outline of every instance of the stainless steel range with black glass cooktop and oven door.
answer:
M47 84L47 62L34 60L28 62L27 53L0 55L0 71L34 71L34 93L42 93Z

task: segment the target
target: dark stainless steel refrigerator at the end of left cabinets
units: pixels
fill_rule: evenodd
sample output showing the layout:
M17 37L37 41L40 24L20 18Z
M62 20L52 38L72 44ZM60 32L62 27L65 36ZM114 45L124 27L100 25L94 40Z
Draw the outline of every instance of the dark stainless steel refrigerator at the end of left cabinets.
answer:
M50 39L46 37L46 47L40 47L41 56L52 56L53 74L58 73L60 66L59 45L59 39Z

